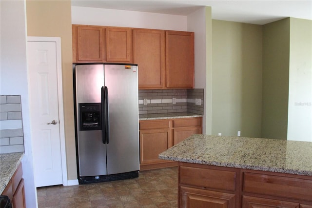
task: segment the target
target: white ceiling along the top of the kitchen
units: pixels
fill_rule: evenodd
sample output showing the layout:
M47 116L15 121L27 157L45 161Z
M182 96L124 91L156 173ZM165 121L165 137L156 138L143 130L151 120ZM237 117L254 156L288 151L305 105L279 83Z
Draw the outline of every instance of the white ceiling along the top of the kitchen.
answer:
M312 20L312 0L72 0L72 6L187 16L212 7L212 19L266 24L286 17Z

